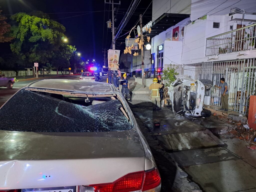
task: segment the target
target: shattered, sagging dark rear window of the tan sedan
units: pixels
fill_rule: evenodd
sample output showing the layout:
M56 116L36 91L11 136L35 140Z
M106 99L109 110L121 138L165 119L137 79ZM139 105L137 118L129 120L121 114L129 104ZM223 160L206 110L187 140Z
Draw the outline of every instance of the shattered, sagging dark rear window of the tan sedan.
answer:
M131 129L121 107L119 100L83 106L21 90L0 109L0 130L105 132Z

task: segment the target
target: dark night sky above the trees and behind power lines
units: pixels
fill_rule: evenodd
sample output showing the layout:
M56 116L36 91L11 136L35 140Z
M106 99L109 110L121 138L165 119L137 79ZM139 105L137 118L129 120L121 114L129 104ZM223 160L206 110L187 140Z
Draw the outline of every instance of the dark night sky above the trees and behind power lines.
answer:
M107 2L109 2L109 0L107 0ZM114 0L114 2L119 3L119 0ZM117 15L115 27L119 26L122 18L124 17L124 13L127 12L131 2L132 1L121 0L118 12L115 12L115 15ZM139 14L143 14L151 2L151 0L140 1L140 4L121 35L125 34L136 24ZM69 40L68 44L75 45L77 47L77 51L81 52L85 59L96 59L98 63L103 63L104 54L102 53L102 48L109 49L111 46L112 32L110 29L107 29L106 21L109 19L112 20L112 6L106 4L106 11L104 12L104 0L0 0L0 6L3 10L2 15L6 15L8 18L9 14L15 14L18 12L29 13L33 10L40 10L44 13L48 13L51 19L57 20L66 27L66 36ZM115 5L115 7L118 8L118 5ZM66 13L91 11L99 12L89 14ZM143 26L151 20L151 16L152 4L148 7L143 16ZM125 37L126 35L117 40L116 49L123 51ZM9 45L6 43L0 44L0 49L7 49L8 47Z

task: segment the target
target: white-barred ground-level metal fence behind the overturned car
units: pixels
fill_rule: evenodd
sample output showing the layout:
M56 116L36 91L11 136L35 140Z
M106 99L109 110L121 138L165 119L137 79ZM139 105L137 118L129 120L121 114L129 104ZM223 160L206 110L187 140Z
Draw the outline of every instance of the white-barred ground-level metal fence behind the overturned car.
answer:
M225 78L228 104L242 114L248 112L250 95L256 95L256 58L189 64L184 66L184 74L193 79L212 80L217 86L221 86L220 78ZM221 106L220 89L212 87L206 94L211 96L211 105Z

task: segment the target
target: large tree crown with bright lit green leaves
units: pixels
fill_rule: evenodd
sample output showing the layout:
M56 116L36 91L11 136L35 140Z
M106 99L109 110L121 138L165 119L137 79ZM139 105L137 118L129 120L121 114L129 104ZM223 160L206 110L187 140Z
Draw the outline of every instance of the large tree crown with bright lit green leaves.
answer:
M66 28L60 23L26 13L16 13L10 18L15 22L11 28L15 40L10 47L23 60L44 65L62 46Z

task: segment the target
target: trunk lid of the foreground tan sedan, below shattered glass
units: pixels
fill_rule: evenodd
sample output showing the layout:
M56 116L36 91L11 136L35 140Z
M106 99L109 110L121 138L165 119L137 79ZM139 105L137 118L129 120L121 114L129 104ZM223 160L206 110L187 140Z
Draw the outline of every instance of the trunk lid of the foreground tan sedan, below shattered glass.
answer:
M145 153L133 129L90 133L0 131L0 154L0 189L109 183L145 168Z

